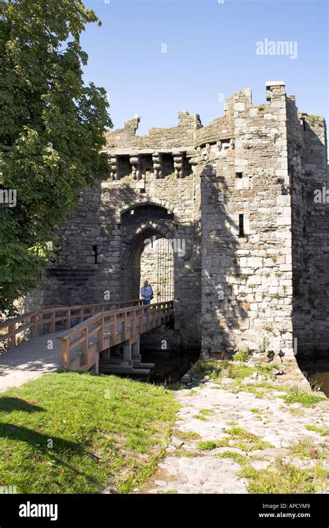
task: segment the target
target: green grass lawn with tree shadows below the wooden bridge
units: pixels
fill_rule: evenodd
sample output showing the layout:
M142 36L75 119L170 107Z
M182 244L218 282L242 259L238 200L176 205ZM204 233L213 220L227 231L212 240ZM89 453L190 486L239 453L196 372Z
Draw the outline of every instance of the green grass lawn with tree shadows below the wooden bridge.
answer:
M45 374L0 395L0 484L18 493L128 493L165 453L178 406L163 387Z

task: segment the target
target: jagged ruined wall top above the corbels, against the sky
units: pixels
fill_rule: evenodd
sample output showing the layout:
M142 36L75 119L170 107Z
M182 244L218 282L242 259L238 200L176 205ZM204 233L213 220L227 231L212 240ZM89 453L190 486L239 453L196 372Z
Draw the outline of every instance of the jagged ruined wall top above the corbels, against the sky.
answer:
M154 152L193 152L197 147L204 147L223 140L235 138L235 118L242 110L262 109L264 113L287 112L290 121L289 133L294 135L294 140L303 147L303 119L307 114L301 113L297 117L297 108L294 95L287 96L283 81L267 81L267 102L260 106L252 104L250 88L244 88L226 99L224 115L217 117L208 125L203 126L199 114L189 115L187 111L178 112L178 125L170 128L151 128L148 135L136 135L140 116L135 115L129 119L123 129L106 133L106 151L112 156L124 154L153 154ZM283 106L287 105L287 108ZM289 119L290 116L290 119ZM320 126L325 127L324 119Z

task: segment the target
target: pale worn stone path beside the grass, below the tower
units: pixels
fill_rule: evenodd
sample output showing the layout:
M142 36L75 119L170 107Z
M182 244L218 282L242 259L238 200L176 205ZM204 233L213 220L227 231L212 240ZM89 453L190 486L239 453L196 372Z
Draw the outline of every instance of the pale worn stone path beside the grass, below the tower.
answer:
M250 386L251 379L243 383ZM301 469L316 463L303 456L290 456L289 447L310 440L322 449L326 438L305 426L328 425L328 400L307 408L283 402L279 396L285 393L280 386L278 390L267 390L262 397L248 391L235 392L233 386L236 389L233 379L224 378L178 391L180 411L167 456L158 464L147 488L135 490L137 493L248 493L248 479L239 475L242 465L230 457L221 458L228 452L243 456L257 470L267 468L278 457ZM260 448L246 451L248 439L232 435L233 427L256 435L262 441L258 443ZM226 445L203 450L200 442ZM242 449L234 447L236 443Z

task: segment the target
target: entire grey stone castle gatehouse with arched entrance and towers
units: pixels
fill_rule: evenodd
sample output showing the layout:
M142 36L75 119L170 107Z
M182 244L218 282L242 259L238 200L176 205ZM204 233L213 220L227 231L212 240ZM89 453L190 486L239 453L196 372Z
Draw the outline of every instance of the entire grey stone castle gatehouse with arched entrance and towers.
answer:
M106 134L111 176L58 231L62 261L47 269L39 302L130 299L141 258L152 277L145 240L167 238L171 333L183 346L204 357L243 346L291 355L294 337L301 351L325 340L329 216L312 195L327 181L323 119L298 113L279 81L260 106L237 92L207 126L179 112L178 126L139 136L139 121Z

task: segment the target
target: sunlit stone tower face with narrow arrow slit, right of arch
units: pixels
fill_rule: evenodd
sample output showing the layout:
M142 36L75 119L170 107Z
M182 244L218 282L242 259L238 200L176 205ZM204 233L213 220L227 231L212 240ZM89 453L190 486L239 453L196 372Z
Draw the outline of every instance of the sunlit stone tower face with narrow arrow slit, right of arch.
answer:
M201 167L203 355L230 347L292 354L292 236L283 83L228 100L234 142ZM207 147L205 147L207 150ZM203 151L201 151L202 154ZM244 233L239 236L239 215Z

